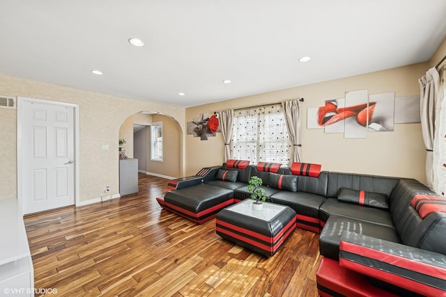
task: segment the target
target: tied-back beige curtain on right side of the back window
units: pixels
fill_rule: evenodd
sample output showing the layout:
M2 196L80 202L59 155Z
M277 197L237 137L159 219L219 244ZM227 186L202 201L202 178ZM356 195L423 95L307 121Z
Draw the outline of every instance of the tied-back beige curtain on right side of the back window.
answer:
M289 166L293 162L300 162L300 101L291 100L282 102L284 109L286 128L293 147L290 150Z

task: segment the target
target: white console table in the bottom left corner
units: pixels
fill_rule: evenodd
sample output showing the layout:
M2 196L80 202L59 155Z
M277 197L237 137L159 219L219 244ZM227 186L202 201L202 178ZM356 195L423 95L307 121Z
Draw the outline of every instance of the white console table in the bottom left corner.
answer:
M33 261L17 200L0 200L0 238L0 296L34 296Z

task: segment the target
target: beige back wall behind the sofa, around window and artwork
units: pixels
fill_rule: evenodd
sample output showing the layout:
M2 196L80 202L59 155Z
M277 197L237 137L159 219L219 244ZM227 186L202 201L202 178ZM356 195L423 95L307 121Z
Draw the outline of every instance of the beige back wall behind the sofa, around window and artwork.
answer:
M301 105L302 161L321 163L323 170L357 172L371 175L424 178L425 150L420 124L395 125L392 132L369 133L367 138L346 139L344 134L325 134L323 129L307 129L307 109L323 106L325 100L344 98L351 90L367 89L369 94L394 91L397 97L420 94L418 79L429 67L420 63L391 70L347 77L298 88L231 99L186 109L186 122L201 113L213 113L290 99L305 98ZM323 71L323 70L321 70ZM204 166L223 161L223 138L200 141L186 136L187 175Z

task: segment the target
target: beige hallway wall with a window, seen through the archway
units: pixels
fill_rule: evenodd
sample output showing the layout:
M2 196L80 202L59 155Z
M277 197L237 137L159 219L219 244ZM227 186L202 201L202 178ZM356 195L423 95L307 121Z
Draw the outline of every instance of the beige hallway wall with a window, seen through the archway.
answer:
M181 163L181 131L176 120L164 115L153 115L153 123L162 122L162 162L151 161L151 145L147 146L147 171L164 177L181 177L178 164ZM147 140L151 139L151 129L147 129Z

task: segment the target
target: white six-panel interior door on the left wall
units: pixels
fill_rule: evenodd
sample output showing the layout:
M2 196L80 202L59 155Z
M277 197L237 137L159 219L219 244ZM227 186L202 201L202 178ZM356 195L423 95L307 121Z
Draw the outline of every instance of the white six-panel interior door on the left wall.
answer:
M75 204L74 107L20 103L24 214Z

